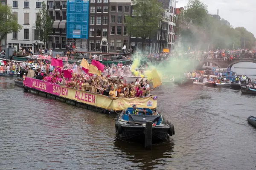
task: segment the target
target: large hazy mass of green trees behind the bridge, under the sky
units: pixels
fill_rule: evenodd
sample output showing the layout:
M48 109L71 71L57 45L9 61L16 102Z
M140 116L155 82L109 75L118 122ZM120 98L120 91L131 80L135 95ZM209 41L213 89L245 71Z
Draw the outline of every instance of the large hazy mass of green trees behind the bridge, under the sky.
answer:
M178 16L177 34L182 37L185 50L253 48L255 37L243 27L227 26L208 14L207 6L200 0L189 0L187 8Z

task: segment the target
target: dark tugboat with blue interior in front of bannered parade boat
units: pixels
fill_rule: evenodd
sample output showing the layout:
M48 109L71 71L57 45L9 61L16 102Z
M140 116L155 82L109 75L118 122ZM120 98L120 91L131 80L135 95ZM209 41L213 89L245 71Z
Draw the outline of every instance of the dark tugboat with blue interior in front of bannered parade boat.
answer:
M174 125L166 121L159 113L152 115L151 109L144 108L145 112L142 108L137 109L139 110L138 115L131 114L133 108L127 108L116 118L116 135L120 139L140 143L150 139L152 143L156 143L165 141L169 136L175 134ZM149 125L151 136L147 134L148 121L151 121Z

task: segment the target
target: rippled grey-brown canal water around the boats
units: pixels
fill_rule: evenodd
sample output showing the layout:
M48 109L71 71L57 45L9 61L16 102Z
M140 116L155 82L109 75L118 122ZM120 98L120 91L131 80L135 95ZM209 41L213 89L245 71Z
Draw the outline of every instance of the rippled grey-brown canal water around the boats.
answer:
M115 137L113 115L23 92L0 77L0 169L255 170L256 96L164 84L152 91L175 136L152 150Z

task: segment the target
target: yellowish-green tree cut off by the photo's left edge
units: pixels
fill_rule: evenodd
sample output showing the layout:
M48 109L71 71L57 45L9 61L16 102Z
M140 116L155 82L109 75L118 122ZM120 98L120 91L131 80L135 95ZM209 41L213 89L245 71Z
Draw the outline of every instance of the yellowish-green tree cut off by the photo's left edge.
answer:
M0 3L0 42L7 34L21 29L22 26L17 23L17 18L12 15L12 8Z

